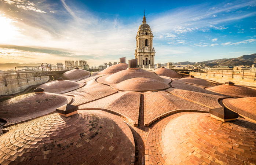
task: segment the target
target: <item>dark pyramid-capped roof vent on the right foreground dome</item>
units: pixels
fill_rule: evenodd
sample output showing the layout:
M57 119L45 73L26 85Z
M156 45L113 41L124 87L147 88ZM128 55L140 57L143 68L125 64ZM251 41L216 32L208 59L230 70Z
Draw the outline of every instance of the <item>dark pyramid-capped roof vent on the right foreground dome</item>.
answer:
M231 121L238 118L237 113L229 109L226 109L224 107L210 109L209 113L211 114L211 117L216 118L217 120L220 120L220 121Z

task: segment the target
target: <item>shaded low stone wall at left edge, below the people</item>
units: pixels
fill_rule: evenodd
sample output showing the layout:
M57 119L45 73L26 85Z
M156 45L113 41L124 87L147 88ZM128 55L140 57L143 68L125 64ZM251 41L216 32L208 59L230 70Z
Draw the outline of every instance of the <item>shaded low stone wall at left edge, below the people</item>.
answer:
M0 95L17 94L32 85L43 84L46 83L48 80L49 76L41 76L41 78L34 77L34 73L27 73L27 76L25 73L21 73L19 75L6 74L6 86L4 81L4 75L0 75Z

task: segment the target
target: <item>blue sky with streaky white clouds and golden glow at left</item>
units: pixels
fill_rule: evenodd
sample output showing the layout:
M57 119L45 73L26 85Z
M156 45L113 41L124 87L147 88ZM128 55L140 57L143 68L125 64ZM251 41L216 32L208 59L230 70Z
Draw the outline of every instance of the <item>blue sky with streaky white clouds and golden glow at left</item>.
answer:
M156 63L256 53L256 0L0 0L0 63L133 59L144 8Z

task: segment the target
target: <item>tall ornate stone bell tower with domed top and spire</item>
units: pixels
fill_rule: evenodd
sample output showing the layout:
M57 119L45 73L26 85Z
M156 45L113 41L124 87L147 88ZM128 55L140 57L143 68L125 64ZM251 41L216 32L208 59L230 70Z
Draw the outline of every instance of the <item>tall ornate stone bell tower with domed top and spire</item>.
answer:
M135 49L135 58L138 58L138 67L154 68L155 48L153 47L153 33L147 24L145 12L142 24L136 36L137 46Z

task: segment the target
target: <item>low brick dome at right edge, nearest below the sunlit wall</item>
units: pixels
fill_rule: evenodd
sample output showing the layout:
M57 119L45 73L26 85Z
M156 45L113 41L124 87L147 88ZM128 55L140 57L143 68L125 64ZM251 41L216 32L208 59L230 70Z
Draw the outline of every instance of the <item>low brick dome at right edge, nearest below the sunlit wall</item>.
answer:
M216 87L206 88L210 91L233 97L255 97L256 90L239 85L218 85Z

